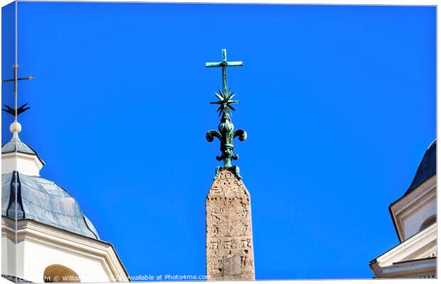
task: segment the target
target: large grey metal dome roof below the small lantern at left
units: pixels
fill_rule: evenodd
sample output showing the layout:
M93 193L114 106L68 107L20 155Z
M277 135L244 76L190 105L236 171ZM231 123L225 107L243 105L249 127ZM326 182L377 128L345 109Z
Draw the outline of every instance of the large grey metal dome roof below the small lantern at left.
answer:
M18 182L15 201L14 174ZM78 202L63 187L37 176L18 172L1 175L1 215L15 219L31 219L59 229L100 239L80 209Z

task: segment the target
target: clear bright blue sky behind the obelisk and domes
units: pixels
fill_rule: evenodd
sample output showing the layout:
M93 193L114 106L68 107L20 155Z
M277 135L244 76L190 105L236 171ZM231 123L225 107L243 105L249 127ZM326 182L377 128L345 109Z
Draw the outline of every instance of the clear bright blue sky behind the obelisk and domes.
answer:
M3 76L13 63L3 9ZM436 136L435 7L18 4L21 138L130 275L205 274L221 70L248 140L256 278L371 278ZM11 86L3 84L3 101ZM2 139L9 117L2 114Z

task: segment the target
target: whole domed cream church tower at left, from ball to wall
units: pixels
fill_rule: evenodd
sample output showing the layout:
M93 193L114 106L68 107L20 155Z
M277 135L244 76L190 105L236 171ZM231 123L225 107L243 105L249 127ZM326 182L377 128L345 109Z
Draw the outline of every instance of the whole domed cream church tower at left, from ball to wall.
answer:
M18 138L1 148L1 274L43 282L122 282L128 275L112 244L102 241L78 202L40 177L44 165Z

